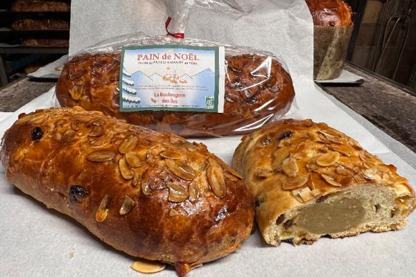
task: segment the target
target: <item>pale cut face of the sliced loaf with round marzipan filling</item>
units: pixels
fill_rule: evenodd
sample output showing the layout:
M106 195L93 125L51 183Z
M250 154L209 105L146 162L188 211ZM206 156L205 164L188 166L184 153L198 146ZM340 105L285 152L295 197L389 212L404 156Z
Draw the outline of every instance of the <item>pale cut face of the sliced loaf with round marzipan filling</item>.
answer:
M366 231L401 229L415 203L387 186L369 185L311 199L278 215L263 232L266 242L311 244L323 235L344 238Z

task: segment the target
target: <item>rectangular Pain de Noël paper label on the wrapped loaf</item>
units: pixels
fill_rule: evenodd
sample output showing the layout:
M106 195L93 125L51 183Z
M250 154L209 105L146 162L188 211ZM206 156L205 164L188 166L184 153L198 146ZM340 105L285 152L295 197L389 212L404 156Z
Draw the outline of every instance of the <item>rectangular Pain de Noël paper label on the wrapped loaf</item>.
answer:
M120 111L223 113L224 61L223 47L125 47L120 65Z

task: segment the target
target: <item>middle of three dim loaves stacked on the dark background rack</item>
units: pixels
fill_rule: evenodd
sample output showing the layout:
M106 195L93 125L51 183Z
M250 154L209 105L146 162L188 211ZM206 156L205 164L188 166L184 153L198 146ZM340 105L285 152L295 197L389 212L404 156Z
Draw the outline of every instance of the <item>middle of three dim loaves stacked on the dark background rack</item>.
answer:
M59 19L17 19L12 30L69 30L69 22Z

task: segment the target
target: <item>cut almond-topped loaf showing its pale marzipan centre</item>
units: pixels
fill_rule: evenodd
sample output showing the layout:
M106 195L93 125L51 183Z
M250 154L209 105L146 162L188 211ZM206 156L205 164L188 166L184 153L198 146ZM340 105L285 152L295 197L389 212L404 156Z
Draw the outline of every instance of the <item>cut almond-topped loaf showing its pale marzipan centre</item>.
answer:
M395 166L311 120L281 120L244 136L233 166L256 199L269 244L401 229L416 206Z

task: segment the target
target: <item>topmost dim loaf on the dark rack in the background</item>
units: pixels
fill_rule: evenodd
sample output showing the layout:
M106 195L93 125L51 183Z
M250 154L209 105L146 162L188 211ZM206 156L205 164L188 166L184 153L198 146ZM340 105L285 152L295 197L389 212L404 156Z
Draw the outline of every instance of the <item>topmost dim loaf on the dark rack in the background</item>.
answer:
M12 4L13 12L69 12L68 3L60 1L17 0Z

